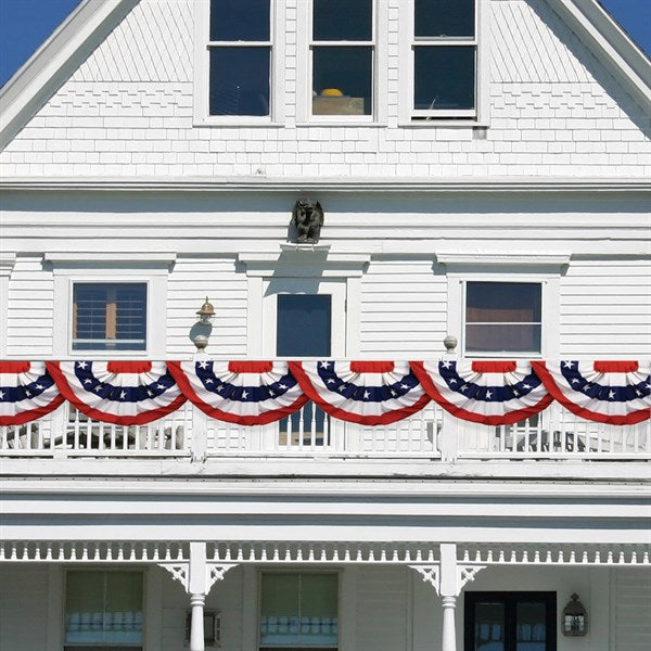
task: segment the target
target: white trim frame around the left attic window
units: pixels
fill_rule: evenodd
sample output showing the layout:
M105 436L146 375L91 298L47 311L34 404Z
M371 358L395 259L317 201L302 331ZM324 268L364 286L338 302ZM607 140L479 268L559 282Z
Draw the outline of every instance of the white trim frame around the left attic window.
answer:
M285 2L269 0L270 7L270 77L269 77L269 115L210 115L210 0L194 0L194 100L193 125L195 127L270 127L284 123L284 87L285 87L285 44L286 30ZM257 41L256 41L257 43ZM231 43L237 44L237 43ZM242 42L246 46L246 42Z

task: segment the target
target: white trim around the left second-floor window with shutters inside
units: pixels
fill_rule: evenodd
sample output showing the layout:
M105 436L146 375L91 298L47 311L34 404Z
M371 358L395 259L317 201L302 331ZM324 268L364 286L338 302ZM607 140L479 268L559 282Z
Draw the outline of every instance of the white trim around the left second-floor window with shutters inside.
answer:
M164 359L167 342L167 280L174 255L132 254L89 261L84 258L46 254L44 260L53 265L54 318L52 354L58 359ZM73 350L73 285L82 282L146 283L146 345L144 350ZM157 317L157 318L156 318Z

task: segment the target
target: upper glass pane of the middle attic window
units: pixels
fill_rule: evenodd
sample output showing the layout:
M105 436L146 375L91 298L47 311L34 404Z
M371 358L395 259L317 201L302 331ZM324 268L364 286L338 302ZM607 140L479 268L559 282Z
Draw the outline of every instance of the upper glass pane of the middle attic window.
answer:
M372 0L314 0L314 40L371 40Z

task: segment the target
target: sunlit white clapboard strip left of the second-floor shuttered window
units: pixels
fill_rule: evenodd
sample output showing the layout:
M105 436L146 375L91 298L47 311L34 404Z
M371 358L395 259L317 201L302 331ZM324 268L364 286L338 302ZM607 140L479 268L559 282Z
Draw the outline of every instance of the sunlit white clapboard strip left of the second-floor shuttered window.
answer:
M17 257L8 298L8 355L51 355L54 282L52 272L43 270L40 256Z

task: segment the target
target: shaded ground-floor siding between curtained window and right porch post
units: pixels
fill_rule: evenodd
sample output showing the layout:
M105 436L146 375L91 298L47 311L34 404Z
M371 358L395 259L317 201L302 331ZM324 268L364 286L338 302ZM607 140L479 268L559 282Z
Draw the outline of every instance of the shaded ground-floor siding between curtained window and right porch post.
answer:
M406 651L407 569L362 567L357 573L356 649Z

